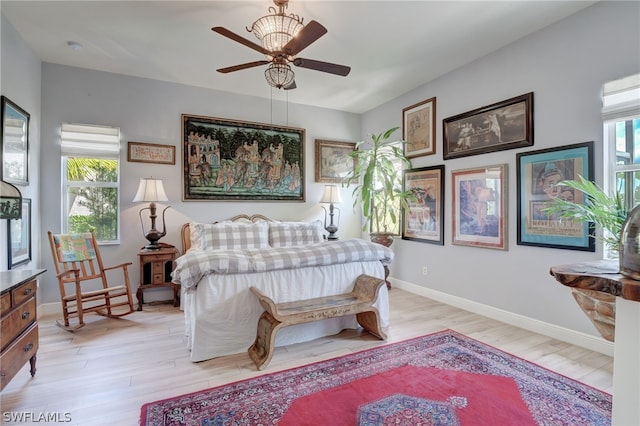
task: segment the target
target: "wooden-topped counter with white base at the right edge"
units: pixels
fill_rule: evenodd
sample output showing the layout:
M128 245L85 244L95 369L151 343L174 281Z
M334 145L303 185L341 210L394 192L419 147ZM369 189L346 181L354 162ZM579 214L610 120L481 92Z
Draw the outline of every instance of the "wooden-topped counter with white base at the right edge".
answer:
M612 424L640 425L640 281L618 271L618 261L600 260L550 273L565 286L615 296Z

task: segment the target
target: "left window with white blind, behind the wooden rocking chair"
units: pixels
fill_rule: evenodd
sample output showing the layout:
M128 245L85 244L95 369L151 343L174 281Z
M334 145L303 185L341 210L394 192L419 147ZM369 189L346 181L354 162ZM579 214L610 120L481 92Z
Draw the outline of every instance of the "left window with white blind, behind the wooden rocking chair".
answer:
M63 232L94 231L100 243L120 239L120 129L63 123Z

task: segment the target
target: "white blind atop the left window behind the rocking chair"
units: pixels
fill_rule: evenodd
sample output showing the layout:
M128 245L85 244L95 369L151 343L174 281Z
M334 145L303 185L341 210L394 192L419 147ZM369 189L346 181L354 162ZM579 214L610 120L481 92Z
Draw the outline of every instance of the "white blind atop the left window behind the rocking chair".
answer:
M62 155L120 155L120 129L90 124L62 123Z

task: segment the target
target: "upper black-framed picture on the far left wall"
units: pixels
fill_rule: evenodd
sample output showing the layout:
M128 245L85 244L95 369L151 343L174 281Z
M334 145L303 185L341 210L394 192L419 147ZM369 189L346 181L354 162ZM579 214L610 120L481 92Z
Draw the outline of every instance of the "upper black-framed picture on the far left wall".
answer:
M2 175L16 185L29 184L28 112L2 96Z

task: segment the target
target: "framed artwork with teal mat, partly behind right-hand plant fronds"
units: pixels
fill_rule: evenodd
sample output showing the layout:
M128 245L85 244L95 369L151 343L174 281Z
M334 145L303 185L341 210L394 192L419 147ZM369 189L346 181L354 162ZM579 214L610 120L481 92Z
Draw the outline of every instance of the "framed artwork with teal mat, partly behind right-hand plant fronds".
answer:
M593 223L561 220L545 212L554 198L577 203L580 191L557 185L579 176L593 180L593 142L519 153L518 244L568 250L595 251Z

